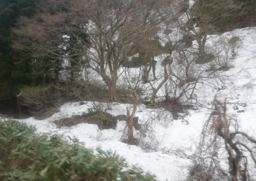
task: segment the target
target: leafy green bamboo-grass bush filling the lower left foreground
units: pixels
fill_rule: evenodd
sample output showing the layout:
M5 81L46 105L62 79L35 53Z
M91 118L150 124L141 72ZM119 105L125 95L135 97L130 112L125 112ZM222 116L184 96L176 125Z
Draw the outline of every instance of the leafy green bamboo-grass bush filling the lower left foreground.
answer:
M76 138L35 133L33 126L0 121L0 180L155 180L111 152L94 154Z

